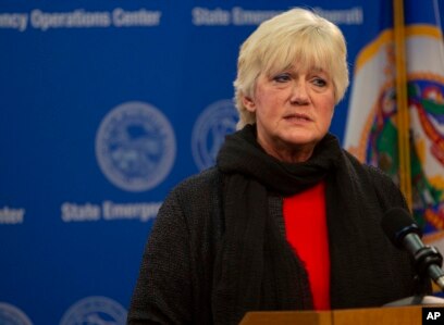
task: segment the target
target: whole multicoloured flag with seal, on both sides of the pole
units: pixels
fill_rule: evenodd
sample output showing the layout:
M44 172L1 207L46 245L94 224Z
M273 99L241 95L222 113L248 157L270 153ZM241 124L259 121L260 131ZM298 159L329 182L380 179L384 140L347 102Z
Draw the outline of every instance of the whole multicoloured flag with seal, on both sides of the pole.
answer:
M444 251L443 1L404 1L411 209L425 240ZM393 13L393 8L390 14ZM355 62L344 148L399 185L399 112L393 24Z

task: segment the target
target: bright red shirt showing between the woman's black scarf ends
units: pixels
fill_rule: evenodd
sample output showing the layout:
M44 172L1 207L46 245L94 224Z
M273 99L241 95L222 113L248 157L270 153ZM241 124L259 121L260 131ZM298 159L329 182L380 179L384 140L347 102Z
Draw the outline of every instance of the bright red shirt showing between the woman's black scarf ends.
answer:
M316 310L330 309L330 254L325 218L325 185L284 198L288 242L308 272Z

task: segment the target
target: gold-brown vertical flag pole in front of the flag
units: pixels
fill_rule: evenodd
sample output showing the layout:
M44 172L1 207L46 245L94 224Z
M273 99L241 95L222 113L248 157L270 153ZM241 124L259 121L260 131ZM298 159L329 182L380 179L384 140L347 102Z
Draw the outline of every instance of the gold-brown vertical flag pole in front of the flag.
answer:
M404 0L393 1L395 58L396 58L396 105L399 154L399 188L409 209L412 208L409 113L407 99L406 39L404 22Z

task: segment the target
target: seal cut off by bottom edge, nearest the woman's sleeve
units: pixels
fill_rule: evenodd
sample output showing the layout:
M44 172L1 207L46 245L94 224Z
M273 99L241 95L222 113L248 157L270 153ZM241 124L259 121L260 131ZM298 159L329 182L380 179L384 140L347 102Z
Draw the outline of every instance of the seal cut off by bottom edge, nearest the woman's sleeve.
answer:
M63 315L60 325L108 324L124 325L126 310L107 297L87 297L74 303Z

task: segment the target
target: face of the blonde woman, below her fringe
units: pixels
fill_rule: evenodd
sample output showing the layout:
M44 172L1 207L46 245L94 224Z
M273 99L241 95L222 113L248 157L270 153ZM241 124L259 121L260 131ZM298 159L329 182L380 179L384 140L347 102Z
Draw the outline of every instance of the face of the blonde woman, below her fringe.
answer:
M297 65L272 76L261 74L254 97L243 101L256 113L258 142L285 162L310 158L329 130L335 104L331 76Z

